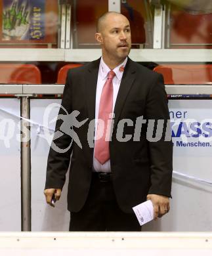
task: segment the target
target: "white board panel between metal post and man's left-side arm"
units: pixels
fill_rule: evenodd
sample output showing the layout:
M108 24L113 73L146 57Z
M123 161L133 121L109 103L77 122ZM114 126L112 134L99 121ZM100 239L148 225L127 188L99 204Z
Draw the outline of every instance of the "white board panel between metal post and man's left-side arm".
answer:
M49 104L60 104L61 100L31 100L30 118L36 123L43 125L43 114ZM53 108L50 118L56 117L58 108ZM51 121L51 120L50 120ZM54 129L55 123L49 127ZM47 157L49 154L49 144L42 138L43 131L37 134L37 125L31 127L31 162L32 162L32 231L68 231L70 213L67 210L67 182L62 190L62 196L56 202L55 208L47 205L43 194L45 187L45 175L47 169ZM68 175L68 174L67 174ZM67 181L68 179L66 179Z

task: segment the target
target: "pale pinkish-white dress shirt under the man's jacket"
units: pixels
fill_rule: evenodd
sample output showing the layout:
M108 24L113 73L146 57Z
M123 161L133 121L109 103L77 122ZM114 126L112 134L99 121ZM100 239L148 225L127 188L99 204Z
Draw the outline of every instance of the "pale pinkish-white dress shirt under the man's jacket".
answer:
M116 68L114 68L114 73L116 74L113 79L113 88L114 88L114 93L113 93L113 112L114 112L114 107L116 104L116 98L117 98L117 93L119 91L120 83L121 83L121 78L123 75L123 68L125 67L127 63L127 58ZM123 68L122 68L123 67ZM105 64L103 58L100 60L100 65L98 69L98 80L97 80L97 86L96 86L96 109L95 109L95 137L96 137L96 126L98 123L98 108L100 104L100 98L102 94L102 89L104 87L104 83L106 82L108 72L110 72L110 68ZM95 149L94 149L95 152ZM110 173L111 168L110 168L110 160L106 161L103 165L96 160L95 154L93 154L93 171L98 171L98 172L103 172L103 173Z

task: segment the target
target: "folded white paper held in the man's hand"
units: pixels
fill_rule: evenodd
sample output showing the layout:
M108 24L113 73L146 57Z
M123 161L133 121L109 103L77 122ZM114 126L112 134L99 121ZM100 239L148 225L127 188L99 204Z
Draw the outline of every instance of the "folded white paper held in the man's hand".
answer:
M133 211L137 216L140 226L154 219L154 207L151 200L136 205L133 207Z

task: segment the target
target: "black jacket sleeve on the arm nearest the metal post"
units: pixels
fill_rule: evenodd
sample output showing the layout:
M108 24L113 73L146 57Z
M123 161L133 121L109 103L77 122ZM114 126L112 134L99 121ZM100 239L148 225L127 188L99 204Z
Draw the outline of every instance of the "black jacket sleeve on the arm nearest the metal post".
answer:
M47 176L45 188L62 188L66 181L66 172L70 164L70 156L72 154L72 138L66 133L56 138L56 132L60 131L63 120L61 115L67 117L72 112L72 75L71 70L68 71L66 85L62 98L61 107L56 121L55 133L49 156L47 160ZM66 121L68 121L66 119Z

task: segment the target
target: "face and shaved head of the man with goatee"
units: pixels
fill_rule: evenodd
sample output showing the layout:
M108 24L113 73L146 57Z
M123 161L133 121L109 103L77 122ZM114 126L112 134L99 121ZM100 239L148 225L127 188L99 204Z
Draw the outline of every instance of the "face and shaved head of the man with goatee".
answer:
M131 50L131 30L127 18L120 14L106 16L102 22L100 39L102 51L109 58L126 58Z

